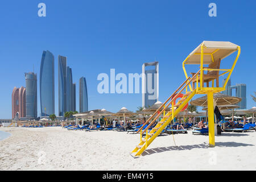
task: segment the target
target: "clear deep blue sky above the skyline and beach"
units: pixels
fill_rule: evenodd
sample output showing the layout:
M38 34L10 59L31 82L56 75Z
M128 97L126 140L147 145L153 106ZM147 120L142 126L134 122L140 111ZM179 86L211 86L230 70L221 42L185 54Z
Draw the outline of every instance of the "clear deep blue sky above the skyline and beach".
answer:
M46 4L46 17L38 4ZM210 17L209 3L217 16ZM141 73L145 62L159 61L159 100L164 101L184 81L182 62L203 40L229 41L241 46L232 85L247 86L247 109L255 106L255 1L1 1L0 118L11 118L11 92L26 86L24 73L38 73L43 50L55 56L55 113L58 113L57 56L68 57L76 82L86 77L89 110L135 111L141 94L99 94L97 76ZM234 56L233 56L234 57ZM231 58L233 58L231 57ZM225 61L232 61L232 59ZM228 63L228 62L226 62ZM230 65L223 63L223 65ZM231 62L229 62L231 63ZM188 71L189 72L189 71ZM221 81L220 81L221 83Z

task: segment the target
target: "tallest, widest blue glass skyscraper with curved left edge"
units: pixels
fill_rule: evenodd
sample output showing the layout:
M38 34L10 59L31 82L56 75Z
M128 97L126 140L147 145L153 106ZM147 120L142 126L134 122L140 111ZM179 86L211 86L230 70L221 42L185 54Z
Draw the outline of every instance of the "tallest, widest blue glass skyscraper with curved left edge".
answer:
M54 56L43 51L40 67L41 116L55 114Z

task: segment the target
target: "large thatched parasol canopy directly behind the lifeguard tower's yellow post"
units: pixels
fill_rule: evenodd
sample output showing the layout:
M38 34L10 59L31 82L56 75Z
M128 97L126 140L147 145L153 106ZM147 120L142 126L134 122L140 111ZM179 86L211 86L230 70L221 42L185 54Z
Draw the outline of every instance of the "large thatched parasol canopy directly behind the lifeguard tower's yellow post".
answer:
M237 104L241 100L242 98L240 97L227 96L222 93L213 94L213 103L217 106ZM195 106L208 106L207 96L196 98L191 101L190 104Z

